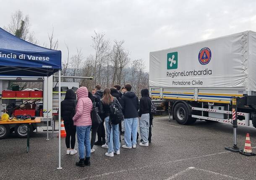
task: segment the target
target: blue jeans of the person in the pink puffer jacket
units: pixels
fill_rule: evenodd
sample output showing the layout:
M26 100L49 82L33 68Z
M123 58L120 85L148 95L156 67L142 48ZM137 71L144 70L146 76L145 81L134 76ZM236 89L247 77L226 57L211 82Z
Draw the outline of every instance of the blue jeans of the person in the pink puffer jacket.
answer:
M85 150L86 150L86 157L90 157L90 155L91 155L90 132L91 132L91 125L76 127L80 159L84 159L84 146L85 146Z

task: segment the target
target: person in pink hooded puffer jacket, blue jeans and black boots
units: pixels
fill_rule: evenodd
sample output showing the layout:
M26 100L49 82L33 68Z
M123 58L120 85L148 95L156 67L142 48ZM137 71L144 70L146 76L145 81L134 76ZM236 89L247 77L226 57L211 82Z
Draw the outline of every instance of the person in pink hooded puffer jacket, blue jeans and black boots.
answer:
M77 104L76 114L73 117L74 125L76 126L76 134L79 150L79 162L76 162L77 166L84 167L84 165L90 165L91 155L91 143L90 143L90 131L91 131L91 109L92 102L88 97L88 90L86 87L80 87L76 91ZM86 156L84 156L84 146L86 150Z

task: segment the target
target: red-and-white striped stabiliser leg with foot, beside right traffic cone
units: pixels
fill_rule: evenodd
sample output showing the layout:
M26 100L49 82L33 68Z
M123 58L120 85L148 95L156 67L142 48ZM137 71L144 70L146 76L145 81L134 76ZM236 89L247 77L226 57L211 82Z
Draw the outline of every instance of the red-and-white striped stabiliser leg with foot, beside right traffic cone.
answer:
M242 151L240 148L237 147L237 136L236 136L236 129L238 128L238 116L237 116L237 97L232 98L232 124L234 129L234 139L233 139L233 146L232 147L225 147L225 150L229 150L232 152L239 152Z

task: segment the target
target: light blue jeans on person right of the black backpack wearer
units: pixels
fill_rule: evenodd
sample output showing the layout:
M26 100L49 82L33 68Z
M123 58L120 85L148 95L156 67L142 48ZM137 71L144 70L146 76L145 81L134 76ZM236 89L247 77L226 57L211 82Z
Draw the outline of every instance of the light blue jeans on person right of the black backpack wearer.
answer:
M125 119L125 145L131 147L136 145L137 141L137 129L138 129L138 117ZM133 142L131 142L133 137Z

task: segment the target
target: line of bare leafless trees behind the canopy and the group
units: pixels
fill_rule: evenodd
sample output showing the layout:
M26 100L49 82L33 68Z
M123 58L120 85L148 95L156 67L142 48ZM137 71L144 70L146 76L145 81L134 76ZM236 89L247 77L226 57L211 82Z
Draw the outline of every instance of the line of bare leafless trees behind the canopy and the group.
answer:
M4 29L25 41L39 45L30 26L29 15L24 16L17 10L11 15L10 23ZM58 48L59 40L54 37L53 32L52 27L52 32L48 33L48 43L43 43L42 46L55 50ZM70 48L65 44L68 55L66 59L62 59L62 75L89 76L93 79L62 80L78 81L89 90L94 89L97 84L112 87L115 84L124 86L130 83L133 86L132 90L139 94L141 89L149 88L149 74L146 72L145 62L140 58L131 59L131 54L125 49L124 44L124 40L110 41L105 38L105 33L96 31L91 36L91 48L94 51L87 57L84 57L81 47L76 47L76 53L70 54Z

